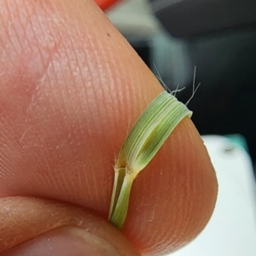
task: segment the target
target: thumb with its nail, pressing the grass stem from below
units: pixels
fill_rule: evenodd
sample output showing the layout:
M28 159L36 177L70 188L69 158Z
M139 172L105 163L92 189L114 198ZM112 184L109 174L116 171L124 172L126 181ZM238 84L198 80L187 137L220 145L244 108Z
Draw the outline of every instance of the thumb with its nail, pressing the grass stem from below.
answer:
M139 255L119 230L81 207L19 196L0 205L1 256Z

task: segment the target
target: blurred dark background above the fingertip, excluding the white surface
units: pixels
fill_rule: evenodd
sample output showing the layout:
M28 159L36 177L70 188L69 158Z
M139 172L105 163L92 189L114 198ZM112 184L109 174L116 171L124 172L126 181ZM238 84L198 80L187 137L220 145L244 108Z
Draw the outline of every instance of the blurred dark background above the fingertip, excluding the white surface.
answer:
M256 162L256 1L96 0L189 109L201 135L239 134ZM155 67L154 67L155 65Z

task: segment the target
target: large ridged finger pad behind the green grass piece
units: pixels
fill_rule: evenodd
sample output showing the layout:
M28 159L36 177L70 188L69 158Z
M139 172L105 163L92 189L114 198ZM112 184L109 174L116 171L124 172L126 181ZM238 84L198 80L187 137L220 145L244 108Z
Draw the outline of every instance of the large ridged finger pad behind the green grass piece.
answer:
M93 1L0 9L0 197L66 201L107 219L113 160L160 85ZM181 247L207 224L217 189L183 119L135 180L123 233L145 255Z

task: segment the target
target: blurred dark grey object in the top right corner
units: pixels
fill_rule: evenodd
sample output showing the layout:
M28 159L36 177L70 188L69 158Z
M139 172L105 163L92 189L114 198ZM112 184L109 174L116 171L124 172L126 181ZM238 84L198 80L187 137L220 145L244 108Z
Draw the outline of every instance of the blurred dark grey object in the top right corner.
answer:
M255 0L149 0L173 37L256 26Z

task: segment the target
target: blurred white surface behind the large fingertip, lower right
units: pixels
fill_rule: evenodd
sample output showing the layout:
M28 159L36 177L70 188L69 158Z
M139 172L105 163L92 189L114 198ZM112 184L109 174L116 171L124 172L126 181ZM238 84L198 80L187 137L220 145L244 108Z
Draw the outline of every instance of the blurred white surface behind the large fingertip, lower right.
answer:
M246 151L225 137L203 137L218 177L218 200L205 230L172 256L255 256L256 189ZM233 149L232 149L233 148Z

